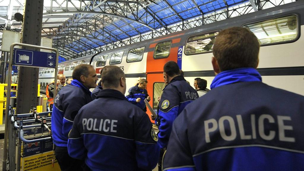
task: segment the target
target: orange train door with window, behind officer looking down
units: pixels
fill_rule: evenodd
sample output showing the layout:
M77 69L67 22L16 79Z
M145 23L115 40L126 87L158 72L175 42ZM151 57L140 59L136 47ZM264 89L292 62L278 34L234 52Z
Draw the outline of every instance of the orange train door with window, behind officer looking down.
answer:
M161 90L164 87L164 75L163 72L147 73L146 78L148 81L147 91L149 96L151 97L149 104L155 110L157 109L157 104L158 104L157 99L161 97ZM151 115L150 110L147 110L147 114L150 118ZM154 123L153 120L151 120L151 122Z

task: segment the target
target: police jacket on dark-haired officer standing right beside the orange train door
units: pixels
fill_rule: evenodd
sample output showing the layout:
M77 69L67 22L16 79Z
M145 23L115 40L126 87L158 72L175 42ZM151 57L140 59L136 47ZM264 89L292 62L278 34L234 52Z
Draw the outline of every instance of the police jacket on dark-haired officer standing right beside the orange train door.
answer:
M158 143L161 148L167 147L171 134L172 123L186 105L199 98L199 95L189 85L183 76L174 77L164 88L158 105L156 121L159 125Z

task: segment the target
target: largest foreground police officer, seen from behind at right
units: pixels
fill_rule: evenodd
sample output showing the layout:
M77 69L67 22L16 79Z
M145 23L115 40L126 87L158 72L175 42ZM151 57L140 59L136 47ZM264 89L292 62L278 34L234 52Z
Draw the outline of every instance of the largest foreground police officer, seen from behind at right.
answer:
M173 124L164 170L304 170L304 97L268 86L246 28L215 39L211 91Z

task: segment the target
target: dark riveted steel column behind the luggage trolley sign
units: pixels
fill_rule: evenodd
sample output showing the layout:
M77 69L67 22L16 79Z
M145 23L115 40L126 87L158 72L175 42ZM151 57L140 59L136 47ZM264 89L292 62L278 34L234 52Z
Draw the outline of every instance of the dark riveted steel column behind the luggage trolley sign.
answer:
M22 27L22 40L24 44L40 46L43 14L43 0L27 0ZM25 49L30 49L24 47ZM39 51L38 49L30 49ZM18 80L18 99L16 113L28 113L37 106L38 68L20 67Z

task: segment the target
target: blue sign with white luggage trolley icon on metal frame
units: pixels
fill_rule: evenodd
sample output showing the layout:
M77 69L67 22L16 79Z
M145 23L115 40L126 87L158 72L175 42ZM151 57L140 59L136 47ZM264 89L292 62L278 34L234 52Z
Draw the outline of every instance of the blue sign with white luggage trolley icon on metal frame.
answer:
M56 54L14 48L13 65L55 68Z

